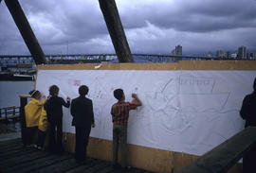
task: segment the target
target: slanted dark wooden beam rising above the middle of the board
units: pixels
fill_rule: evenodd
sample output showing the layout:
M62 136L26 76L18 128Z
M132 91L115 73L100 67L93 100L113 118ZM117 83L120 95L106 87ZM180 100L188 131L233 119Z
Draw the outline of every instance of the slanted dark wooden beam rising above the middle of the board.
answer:
M99 2L119 62L134 62L115 0L99 0Z

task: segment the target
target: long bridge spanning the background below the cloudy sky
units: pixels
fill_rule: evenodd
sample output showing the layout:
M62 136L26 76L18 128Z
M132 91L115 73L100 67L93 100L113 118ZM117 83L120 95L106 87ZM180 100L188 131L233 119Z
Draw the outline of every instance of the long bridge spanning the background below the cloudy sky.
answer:
M132 54L135 61L144 62L175 62L175 61L205 61L205 60L231 60L225 58L206 57L206 56L182 56L182 55L160 55L160 54ZM86 61L111 61L118 62L117 54L55 54L46 55L46 63L70 63L86 62ZM73 62L72 62L73 61ZM2 64L21 64L34 63L31 55L0 55Z

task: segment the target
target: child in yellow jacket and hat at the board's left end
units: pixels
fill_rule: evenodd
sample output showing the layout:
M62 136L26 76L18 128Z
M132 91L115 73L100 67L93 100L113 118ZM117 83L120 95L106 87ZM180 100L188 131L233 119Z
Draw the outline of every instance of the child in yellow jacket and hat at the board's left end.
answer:
M43 96L44 101L40 101L41 93L38 90L29 92L31 95L30 101L25 106L25 117L26 117L26 144L27 147L35 147L32 144L33 136L38 129L38 122L41 116L42 108L46 101L46 96Z

